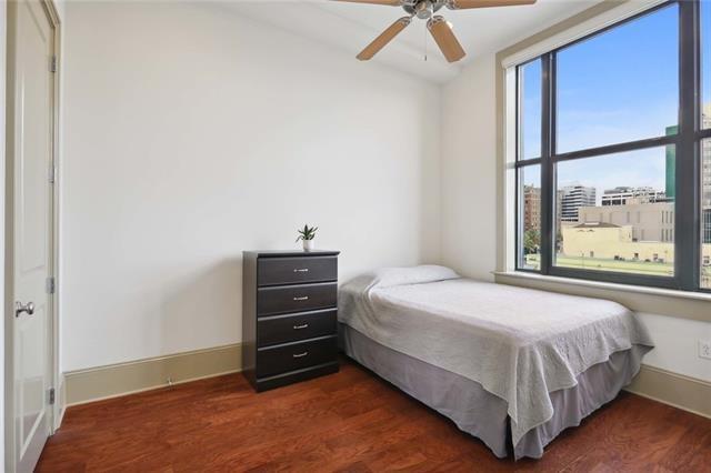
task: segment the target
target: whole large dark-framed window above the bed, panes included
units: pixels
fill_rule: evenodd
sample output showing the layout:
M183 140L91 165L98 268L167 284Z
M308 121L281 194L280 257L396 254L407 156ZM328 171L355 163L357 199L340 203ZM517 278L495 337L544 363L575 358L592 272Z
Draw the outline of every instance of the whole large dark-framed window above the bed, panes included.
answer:
M711 290L711 1L517 68L517 269Z

